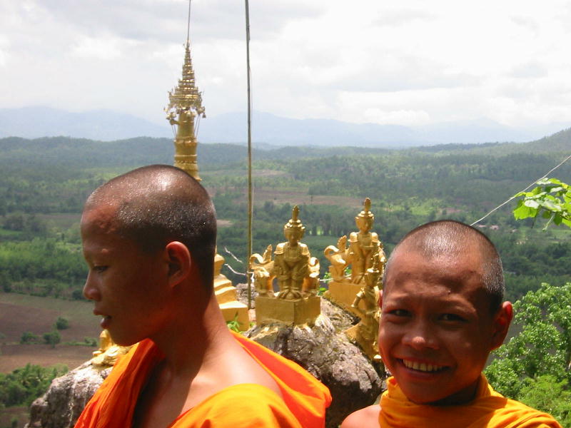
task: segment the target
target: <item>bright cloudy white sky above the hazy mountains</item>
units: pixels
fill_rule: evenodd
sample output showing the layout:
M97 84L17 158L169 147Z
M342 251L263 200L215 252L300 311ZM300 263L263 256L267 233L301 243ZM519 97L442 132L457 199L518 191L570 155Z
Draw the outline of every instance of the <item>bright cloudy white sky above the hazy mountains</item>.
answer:
M0 0L0 108L165 123L187 0ZM568 0L251 0L253 108L423 125L571 123ZM243 1L193 0L206 113L246 110ZM163 122L164 121L164 122Z

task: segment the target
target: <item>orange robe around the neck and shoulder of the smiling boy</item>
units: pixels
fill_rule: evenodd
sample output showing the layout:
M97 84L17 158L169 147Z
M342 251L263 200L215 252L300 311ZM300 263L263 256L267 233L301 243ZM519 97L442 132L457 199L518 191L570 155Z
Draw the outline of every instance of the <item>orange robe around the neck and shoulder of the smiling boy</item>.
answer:
M561 428L549 414L495 392L483 374L475 399L460 406L410 402L394 377L387 386L380 398L381 428Z

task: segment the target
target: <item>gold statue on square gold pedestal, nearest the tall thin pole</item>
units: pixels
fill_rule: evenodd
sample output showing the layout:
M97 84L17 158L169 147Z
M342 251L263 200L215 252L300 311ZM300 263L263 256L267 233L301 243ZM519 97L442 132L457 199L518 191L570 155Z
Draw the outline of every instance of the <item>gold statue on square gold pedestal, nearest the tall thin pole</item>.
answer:
M250 256L256 297L256 322L286 322L304 324L314 322L320 314L317 296L319 261L311 257L308 246L301 243L305 227L299 220L299 207L295 205L288 223L283 227L285 243L276 245L272 260L272 246L263 255ZM278 280L279 291L273 292L273 279Z

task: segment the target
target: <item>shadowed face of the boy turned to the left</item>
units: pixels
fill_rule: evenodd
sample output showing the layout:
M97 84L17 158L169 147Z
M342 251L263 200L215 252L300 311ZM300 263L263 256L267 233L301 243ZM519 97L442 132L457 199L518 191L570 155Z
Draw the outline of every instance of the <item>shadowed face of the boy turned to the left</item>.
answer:
M156 333L167 319L168 263L147 255L113 230L113 209L93 208L81 218L81 238L89 274L84 295L94 315L118 345L133 345Z

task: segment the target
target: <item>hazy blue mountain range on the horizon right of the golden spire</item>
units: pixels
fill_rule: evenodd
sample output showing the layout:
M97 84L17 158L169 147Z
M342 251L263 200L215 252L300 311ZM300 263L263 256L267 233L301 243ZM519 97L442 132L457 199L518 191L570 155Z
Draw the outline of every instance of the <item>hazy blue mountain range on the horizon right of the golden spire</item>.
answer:
M402 148L431 144L524 142L571 126L552 123L533 128L510 128L489 119L436 123L427 126L347 123L329 119L288 119L254 112L252 140L273 146L360 146ZM200 141L243 143L246 113L226 113L201 121Z

